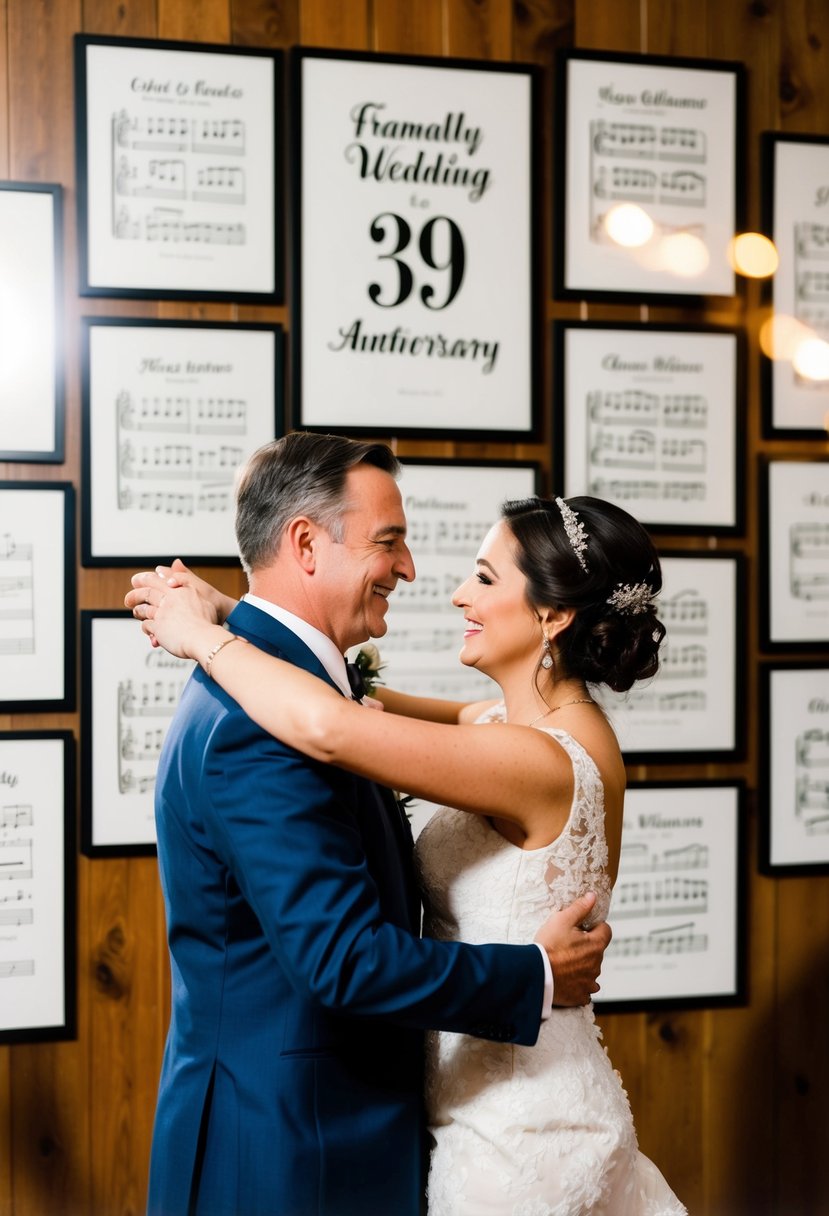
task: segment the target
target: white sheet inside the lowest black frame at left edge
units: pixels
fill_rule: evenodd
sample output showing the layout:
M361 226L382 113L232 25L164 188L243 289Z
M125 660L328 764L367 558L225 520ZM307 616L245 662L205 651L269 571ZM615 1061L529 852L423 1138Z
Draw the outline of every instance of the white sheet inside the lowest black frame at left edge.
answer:
M0 741L0 1030L63 1021L63 741Z

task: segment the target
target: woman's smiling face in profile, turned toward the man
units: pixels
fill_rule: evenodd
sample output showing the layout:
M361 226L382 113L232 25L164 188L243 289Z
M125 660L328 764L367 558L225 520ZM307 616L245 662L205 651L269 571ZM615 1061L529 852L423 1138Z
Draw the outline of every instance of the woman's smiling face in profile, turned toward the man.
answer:
M537 662L543 634L526 602L526 579L515 565L515 540L503 520L484 537L475 573L452 596L463 608L461 663L496 680L508 665Z

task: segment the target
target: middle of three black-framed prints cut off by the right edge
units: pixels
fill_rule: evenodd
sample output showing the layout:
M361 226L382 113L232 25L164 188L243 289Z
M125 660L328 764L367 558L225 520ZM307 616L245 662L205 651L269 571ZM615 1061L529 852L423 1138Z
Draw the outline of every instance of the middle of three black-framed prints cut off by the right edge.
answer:
M763 643L829 642L829 461L771 460L761 471Z

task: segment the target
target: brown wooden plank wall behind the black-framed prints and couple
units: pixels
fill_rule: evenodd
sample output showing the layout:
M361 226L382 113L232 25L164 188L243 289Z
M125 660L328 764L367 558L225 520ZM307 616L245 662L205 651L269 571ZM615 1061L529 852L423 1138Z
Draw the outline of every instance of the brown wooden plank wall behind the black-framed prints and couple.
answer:
M67 458L5 465L0 477L80 485L79 316L263 319L287 309L81 302L75 293L72 35L75 32L239 45L295 43L376 51L532 61L545 68L545 265L551 248L552 67L557 46L743 60L748 221L760 223L758 134L829 133L825 0L0 0L0 176L56 181L66 195ZM0 268L1 272L1 268ZM699 313L559 304L547 274L547 319L699 320ZM636 314L632 316L632 313ZM641 1147L695 1216L829 1212L829 883L756 872L757 472L760 452L816 445L761 439L756 333L760 289L704 320L745 326L748 529L729 541L749 558L748 755L693 769L744 777L751 790L749 1003L667 1014L605 1014L605 1041L631 1096ZM538 444L401 443L402 455L540 460ZM820 446L825 451L825 445ZM547 485L547 489L551 489ZM666 546L693 547L672 539ZM712 545L712 547L715 547ZM241 591L235 572L207 572ZM120 607L124 572L79 570L81 608ZM69 727L79 716L0 716L0 730ZM687 775L637 769L636 778ZM152 860L78 862L78 1038L0 1048L0 1216L134 1216L143 1210L156 1079L168 1008L163 910ZM6 998L4 993L4 1000ZM366 1214L393 1216L393 1214Z

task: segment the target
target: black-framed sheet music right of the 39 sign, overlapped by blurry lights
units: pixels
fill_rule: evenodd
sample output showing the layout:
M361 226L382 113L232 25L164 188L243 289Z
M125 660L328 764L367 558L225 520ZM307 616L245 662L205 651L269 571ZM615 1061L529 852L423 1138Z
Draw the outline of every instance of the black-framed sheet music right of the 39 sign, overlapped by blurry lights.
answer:
M557 72L556 294L735 295L743 64L566 50Z

